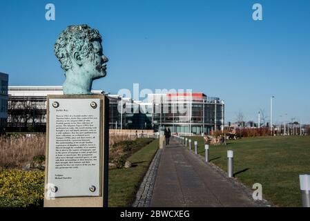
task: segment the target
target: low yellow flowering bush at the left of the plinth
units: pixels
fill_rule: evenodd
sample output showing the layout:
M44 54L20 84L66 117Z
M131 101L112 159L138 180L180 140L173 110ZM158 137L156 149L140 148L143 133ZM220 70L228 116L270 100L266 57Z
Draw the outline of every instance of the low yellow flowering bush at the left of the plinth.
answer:
M0 207L43 206L44 172L0 170Z

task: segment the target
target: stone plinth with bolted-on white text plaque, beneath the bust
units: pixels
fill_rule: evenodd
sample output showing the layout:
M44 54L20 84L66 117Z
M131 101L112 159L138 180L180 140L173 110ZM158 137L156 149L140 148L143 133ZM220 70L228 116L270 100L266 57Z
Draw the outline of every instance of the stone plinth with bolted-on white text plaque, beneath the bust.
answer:
M45 206L86 198L103 201L104 99L104 95L48 96Z

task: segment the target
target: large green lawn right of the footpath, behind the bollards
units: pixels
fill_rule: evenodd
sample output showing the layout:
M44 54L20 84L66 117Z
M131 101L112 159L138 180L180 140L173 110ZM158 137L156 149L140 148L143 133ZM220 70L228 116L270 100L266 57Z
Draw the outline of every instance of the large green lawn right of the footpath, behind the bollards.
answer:
M197 140L198 153L204 156L203 138L190 139L192 144ZM246 186L262 184L263 197L276 206L302 206L299 175L310 174L310 136L243 138L211 146L209 159L224 171L227 150L234 152L235 177Z

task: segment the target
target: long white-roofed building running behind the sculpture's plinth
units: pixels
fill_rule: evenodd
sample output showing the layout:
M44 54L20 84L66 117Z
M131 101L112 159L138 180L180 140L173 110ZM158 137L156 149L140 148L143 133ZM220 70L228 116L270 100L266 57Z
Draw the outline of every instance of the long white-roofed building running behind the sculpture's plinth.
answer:
M150 119L139 111L139 102L103 90L92 93L108 96L109 128L152 129ZM8 131L46 131L47 95L63 95L62 86L9 86Z

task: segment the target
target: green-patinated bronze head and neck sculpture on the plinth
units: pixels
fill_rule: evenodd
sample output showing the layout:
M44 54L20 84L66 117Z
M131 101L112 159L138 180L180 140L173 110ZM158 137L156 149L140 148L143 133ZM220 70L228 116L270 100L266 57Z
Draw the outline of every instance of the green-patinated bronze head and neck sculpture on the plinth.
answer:
M94 79L106 76L101 35L88 25L68 26L61 32L54 52L66 72L64 94L90 94Z

